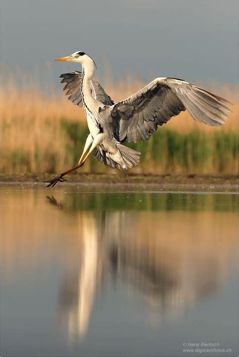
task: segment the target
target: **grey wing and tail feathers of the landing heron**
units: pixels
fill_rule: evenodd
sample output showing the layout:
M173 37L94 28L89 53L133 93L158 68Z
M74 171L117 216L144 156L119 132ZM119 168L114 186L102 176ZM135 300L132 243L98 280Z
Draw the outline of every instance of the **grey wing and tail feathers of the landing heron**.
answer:
M64 90L68 99L74 105L82 107L82 73L75 71L60 77L61 83L66 83ZM89 84L92 97L100 102L97 125L107 133L109 139L104 141L104 145L101 143L97 146L94 158L111 168L128 169L137 166L140 152L122 143L126 140L148 140L158 126L167 123L182 111L188 110L194 120L211 126L222 125L228 119L226 113L231 113L227 106L232 103L228 100L182 79L156 78L137 93L116 104L96 79L91 77ZM113 160L115 148L123 159L121 164L116 159Z

